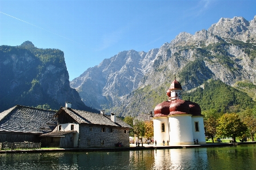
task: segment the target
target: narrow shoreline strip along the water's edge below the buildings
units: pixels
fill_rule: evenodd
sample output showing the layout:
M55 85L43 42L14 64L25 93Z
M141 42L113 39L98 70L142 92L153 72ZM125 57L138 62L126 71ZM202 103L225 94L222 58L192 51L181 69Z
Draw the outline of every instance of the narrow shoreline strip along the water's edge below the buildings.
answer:
M230 147L237 145L256 144L256 142L239 142L239 143L206 143L181 146L154 146L153 144L143 144L143 146L130 147L111 147L111 148L57 148L57 149L37 149L37 150L0 150L0 154L15 153L44 153L44 152L121 152L121 151L139 151L139 150L165 150L165 149L181 149L181 148L200 148L200 147Z

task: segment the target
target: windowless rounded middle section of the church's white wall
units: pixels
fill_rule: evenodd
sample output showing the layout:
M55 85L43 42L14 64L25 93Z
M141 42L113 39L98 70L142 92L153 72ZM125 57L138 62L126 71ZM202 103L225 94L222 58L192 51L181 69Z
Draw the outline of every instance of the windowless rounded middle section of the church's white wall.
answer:
M194 144L191 115L170 115L170 145Z

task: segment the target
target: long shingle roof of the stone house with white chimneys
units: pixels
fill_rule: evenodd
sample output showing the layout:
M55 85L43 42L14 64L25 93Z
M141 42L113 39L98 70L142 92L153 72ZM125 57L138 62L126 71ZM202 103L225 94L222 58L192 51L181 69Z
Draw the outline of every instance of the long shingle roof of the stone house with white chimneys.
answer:
M67 107L61 107L61 109L57 111L55 117L58 117L58 114L61 113L62 110L65 111L67 114L69 114L78 123L91 123L95 125L107 125L107 126L131 128L130 125L123 122L119 118L116 118L116 122L114 123L113 121L111 121L110 115L91 113L89 111L76 110L76 109L71 109Z

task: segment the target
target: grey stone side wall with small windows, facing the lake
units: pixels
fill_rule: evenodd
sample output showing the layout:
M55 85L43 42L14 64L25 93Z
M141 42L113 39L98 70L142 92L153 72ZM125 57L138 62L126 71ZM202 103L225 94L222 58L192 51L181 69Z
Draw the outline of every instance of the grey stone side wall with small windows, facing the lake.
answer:
M90 127L92 128L91 131ZM102 128L105 128L105 132L102 132ZM115 144L118 142L122 142L124 147L129 147L129 128L100 125L80 125L78 140L79 148L115 147ZM88 143L88 140L90 140L90 143Z

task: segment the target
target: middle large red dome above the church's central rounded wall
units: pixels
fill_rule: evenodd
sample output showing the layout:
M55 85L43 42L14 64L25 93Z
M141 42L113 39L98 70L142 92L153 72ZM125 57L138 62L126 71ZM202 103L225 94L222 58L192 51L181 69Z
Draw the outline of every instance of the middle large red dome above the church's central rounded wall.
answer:
M189 104L182 99L171 101L170 114L190 114Z

